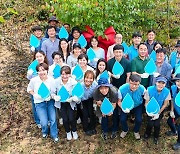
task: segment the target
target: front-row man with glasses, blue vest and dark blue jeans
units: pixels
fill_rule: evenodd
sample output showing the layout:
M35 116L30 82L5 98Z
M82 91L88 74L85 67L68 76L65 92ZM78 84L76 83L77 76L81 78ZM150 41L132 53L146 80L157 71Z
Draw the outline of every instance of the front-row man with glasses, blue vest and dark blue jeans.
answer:
M140 139L139 130L142 123L142 107L143 107L143 96L145 93L145 87L140 84L141 77L137 74L131 74L129 77L129 83L123 84L118 91L118 105L121 108L120 123L122 127L122 132L120 134L121 138L124 138L128 132L127 117L130 112L129 109L122 109L122 101L124 97L129 94L134 101L134 108L132 113L135 114L135 126L134 126L134 136L137 140ZM128 102L126 102L128 103Z

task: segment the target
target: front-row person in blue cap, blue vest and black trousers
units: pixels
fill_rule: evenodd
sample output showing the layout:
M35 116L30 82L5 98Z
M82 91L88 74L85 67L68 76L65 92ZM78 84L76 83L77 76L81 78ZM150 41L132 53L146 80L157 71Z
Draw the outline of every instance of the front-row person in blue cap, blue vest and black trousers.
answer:
M160 133L160 122L163 118L164 109L167 107L169 100L171 100L170 91L166 88L167 79L160 75L156 78L154 86L147 88L144 99L146 100L145 106L151 98L155 98L159 104L160 111L157 114L148 115L147 126L144 134L144 138L148 139L151 135L152 128L154 127L154 143L158 144L158 138Z

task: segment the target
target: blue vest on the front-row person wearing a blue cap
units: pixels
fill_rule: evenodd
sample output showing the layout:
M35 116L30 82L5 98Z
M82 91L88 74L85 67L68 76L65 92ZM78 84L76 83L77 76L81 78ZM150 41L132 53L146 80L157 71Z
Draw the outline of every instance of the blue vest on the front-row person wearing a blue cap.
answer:
M165 99L168 97L170 91L168 88L164 87L163 90L158 93L156 86L150 86L147 88L150 99L154 97L158 102L160 108L163 106Z

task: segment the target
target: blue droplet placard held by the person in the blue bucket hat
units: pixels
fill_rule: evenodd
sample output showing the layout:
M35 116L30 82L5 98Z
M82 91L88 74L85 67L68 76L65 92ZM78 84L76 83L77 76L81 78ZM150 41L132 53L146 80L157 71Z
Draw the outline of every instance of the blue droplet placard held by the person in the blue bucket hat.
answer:
M111 112L113 112L114 107L111 104L111 102L105 97L101 104L100 110L101 110L102 114L108 115Z

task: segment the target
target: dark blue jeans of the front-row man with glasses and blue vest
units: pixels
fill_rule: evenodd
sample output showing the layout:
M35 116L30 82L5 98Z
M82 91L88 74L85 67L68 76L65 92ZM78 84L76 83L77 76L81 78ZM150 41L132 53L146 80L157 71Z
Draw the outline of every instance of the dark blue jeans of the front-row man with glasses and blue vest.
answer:
M135 125L134 125L134 132L135 133L139 132L139 129L141 127L141 123L142 123L142 107L143 107L143 105L141 104L141 105L135 107L132 110L132 112L135 115ZM127 116L128 116L127 113L124 113L123 111L121 111L120 123L121 123L122 130L124 132L128 131Z

